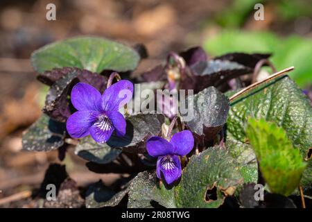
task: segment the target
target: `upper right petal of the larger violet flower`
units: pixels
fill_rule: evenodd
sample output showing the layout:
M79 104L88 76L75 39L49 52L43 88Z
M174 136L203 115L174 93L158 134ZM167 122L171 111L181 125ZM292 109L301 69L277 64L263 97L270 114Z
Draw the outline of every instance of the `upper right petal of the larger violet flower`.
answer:
M133 84L129 80L120 80L108 87L102 95L102 108L106 112L118 111L132 99Z

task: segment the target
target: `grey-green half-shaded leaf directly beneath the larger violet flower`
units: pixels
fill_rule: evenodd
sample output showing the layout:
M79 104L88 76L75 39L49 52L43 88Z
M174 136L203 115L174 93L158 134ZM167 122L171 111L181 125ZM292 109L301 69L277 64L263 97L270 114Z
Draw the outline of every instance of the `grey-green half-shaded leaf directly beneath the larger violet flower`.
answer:
M107 144L98 144L91 137L81 139L75 149L76 155L98 164L112 162L121 153L121 148L112 148Z

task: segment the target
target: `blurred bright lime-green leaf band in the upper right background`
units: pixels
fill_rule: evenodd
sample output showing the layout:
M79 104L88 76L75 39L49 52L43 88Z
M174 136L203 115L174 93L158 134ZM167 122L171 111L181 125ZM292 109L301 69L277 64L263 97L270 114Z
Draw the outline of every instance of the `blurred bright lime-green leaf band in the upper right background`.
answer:
M277 70L295 66L289 75L300 87L312 83L312 40L291 35L279 37L272 32L223 31L206 40L205 49L219 56L229 52L272 53L270 61Z

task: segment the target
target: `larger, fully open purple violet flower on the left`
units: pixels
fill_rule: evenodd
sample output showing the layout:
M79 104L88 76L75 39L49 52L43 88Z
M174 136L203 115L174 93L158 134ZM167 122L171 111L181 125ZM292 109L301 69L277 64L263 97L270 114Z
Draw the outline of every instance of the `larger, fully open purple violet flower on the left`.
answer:
M71 103L78 110L67 119L67 132L73 138L91 137L105 143L113 131L125 135L125 118L119 112L133 94L133 85L128 80L108 87L103 95L92 85L78 83L71 90Z

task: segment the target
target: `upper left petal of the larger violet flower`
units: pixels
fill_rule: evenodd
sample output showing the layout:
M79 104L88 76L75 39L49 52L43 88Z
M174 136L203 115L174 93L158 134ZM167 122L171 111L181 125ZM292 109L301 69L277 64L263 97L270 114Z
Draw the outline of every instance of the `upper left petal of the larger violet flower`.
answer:
M101 93L92 85L77 83L71 90L71 103L77 110L101 112Z

